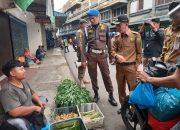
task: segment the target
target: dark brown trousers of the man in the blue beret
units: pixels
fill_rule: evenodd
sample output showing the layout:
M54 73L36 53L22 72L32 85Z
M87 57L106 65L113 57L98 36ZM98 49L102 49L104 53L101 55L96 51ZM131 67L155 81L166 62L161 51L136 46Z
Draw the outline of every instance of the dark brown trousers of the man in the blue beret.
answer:
M107 61L108 54L95 54L93 52L89 52L87 54L88 60L88 73L91 78L92 87L94 91L99 90L98 81L97 81L97 65L102 74L103 82L108 93L113 92L113 86L110 79L109 65Z

